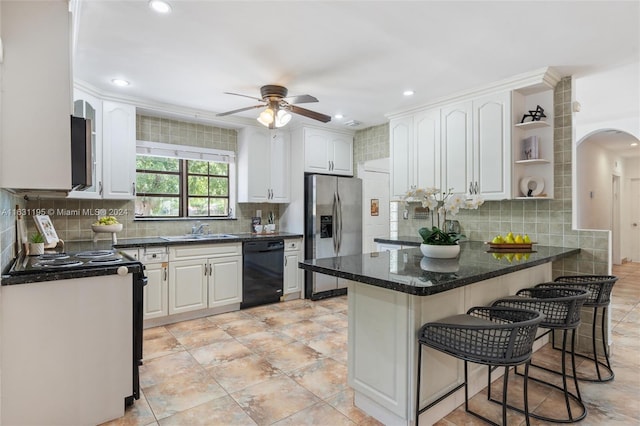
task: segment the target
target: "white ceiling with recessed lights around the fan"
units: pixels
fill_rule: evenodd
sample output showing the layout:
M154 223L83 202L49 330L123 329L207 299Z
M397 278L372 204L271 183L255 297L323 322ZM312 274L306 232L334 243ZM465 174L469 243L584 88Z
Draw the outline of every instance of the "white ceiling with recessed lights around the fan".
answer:
M147 0L80 0L74 78L214 113L256 104L223 92L259 97L262 85L280 84L320 100L305 108L344 114L329 125L357 120L362 129L517 74L585 73L640 52L639 1L170 3L172 13L159 15Z

